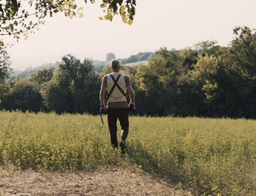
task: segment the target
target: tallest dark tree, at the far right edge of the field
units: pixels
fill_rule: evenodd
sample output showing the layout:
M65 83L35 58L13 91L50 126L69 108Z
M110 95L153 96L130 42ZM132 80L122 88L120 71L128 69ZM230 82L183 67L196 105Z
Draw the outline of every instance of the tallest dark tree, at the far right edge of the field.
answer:
M224 55L222 74L217 77L218 89L208 92L214 94L218 91L219 99L212 105L222 108L219 115L256 118L256 32L237 27L234 35L236 37Z

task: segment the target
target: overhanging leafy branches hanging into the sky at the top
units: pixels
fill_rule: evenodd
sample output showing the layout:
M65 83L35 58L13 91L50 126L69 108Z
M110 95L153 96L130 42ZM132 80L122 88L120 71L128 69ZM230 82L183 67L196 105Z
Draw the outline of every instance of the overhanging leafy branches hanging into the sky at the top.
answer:
M88 0L84 0L87 3ZM93 4L95 0L90 0ZM27 3L31 9L24 9L24 4ZM112 21L113 15L118 15L118 5L120 6L120 15L123 23L132 25L135 15L135 0L125 1L123 0L102 0L101 8L105 8L106 11L104 18ZM19 39L19 36L23 34L27 39L28 34L32 33L34 29L39 29L40 24L44 24L42 21L47 15L53 16L54 13L63 12L67 17L83 17L81 13L82 7L78 7L75 0L35 0L35 1L18 1L18 0L6 0L5 4L0 4L0 35L14 35L14 38ZM34 21L32 19L34 17ZM28 20L30 18L31 20ZM100 17L100 19L103 19ZM0 45L4 46L4 42L0 41Z

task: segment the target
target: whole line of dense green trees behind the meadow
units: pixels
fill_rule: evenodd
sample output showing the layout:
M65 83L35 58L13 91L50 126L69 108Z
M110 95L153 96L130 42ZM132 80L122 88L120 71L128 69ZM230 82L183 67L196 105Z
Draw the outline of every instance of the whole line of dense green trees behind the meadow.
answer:
M130 76L135 90L135 115L255 119L256 33L247 27L233 33L228 47L202 41L194 48L160 48L147 66L122 64L120 72ZM1 60L0 109L99 114L101 80L110 66L97 73L89 59L69 54L62 61L58 69L6 81L11 70L8 59Z

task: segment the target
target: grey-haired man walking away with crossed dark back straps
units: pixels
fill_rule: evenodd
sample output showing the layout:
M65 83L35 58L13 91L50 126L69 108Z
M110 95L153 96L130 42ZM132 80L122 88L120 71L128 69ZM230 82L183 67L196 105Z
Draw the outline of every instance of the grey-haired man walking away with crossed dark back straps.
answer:
M130 77L124 74L120 74L120 63L119 60L113 59L111 61L111 69L113 73L105 75L102 79L102 85L100 90L100 107L105 108L104 106L104 94L105 90L108 90L108 103L106 106L108 107L108 123L110 129L110 139L111 145L114 148L118 147L117 141L117 119L121 125L121 142L120 147L122 149L122 153L125 153L125 140L129 133L129 116L127 110L127 96L126 91L128 89L130 95L130 106L134 103L134 91L132 88ZM114 86L114 89L113 89Z

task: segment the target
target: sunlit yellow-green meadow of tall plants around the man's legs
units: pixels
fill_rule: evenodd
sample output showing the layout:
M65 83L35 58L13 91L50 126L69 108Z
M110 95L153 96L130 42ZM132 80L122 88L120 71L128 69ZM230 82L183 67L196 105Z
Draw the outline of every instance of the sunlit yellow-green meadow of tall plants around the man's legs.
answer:
M53 171L135 166L193 195L256 195L255 120L133 116L126 155L112 149L103 120L2 111L0 164Z

